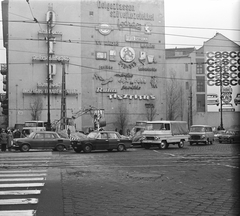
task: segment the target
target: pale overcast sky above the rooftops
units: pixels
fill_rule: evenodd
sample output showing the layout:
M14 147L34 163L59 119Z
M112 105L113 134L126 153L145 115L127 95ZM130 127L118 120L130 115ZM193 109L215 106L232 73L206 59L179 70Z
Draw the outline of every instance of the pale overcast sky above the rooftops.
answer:
M36 0L30 0L30 3L31 1ZM165 0L164 5L166 48L199 48L216 32L240 44L240 0ZM2 21L1 12L0 20ZM5 63L5 50L2 44L1 26L0 63ZM2 92L1 80L0 75L0 92Z

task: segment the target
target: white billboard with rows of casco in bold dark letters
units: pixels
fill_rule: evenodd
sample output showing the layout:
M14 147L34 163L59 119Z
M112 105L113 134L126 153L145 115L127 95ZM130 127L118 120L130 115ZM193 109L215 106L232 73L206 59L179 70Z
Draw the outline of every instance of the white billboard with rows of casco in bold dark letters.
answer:
M206 54L207 111L240 111L240 52L217 51ZM221 91L222 88L222 91Z

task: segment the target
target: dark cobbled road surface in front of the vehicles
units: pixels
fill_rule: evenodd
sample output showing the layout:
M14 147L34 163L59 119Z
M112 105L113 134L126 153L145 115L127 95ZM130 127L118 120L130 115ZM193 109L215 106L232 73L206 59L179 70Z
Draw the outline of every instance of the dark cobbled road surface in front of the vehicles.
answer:
M0 171L47 169L34 206L37 216L236 216L240 215L237 147L214 143L89 154L8 152L1 153L5 162L1 157ZM33 154L47 155L47 160L35 163ZM24 166L12 164L13 156L26 158Z

